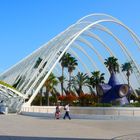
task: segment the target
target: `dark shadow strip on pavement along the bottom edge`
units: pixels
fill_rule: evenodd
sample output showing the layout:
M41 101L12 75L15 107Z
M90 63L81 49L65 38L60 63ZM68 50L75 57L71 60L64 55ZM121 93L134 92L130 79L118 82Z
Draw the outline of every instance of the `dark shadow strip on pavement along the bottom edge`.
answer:
M103 139L55 138L55 137L31 137L31 136L0 136L0 140L103 140Z

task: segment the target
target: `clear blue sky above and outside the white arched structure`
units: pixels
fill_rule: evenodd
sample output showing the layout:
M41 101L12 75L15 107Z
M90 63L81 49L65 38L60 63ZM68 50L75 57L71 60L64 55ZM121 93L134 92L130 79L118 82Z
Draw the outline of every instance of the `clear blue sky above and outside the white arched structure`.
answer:
M140 0L0 0L0 73L91 13L110 14L140 36Z

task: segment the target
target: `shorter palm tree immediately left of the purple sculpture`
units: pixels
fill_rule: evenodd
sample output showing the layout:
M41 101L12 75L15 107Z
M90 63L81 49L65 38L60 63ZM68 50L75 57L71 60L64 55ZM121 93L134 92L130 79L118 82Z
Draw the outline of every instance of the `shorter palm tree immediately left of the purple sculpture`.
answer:
M90 85L96 89L96 93L97 93L97 86L101 83L104 83L104 73L100 73L100 71L94 71L91 73L92 76L90 77Z

